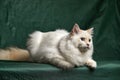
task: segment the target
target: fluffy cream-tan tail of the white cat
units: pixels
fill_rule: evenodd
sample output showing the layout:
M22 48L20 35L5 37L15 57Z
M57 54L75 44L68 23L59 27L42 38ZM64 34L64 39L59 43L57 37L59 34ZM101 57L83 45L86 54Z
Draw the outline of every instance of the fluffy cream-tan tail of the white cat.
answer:
M30 61L30 55L27 50L10 47L0 49L0 60Z

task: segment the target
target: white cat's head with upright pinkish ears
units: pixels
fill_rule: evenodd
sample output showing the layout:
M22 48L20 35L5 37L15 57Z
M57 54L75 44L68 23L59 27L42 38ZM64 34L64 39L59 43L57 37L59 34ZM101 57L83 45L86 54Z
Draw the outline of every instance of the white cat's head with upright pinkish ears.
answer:
M69 36L74 46L85 52L93 47L92 34L93 28L82 30L78 24L75 24Z

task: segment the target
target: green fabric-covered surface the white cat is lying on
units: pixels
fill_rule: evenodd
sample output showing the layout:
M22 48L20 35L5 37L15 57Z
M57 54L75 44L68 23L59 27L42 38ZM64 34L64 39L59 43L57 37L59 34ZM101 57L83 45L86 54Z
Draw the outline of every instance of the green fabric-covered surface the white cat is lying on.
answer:
M98 62L90 72L86 67L63 71L53 66L28 62L0 62L0 80L120 80L120 61Z

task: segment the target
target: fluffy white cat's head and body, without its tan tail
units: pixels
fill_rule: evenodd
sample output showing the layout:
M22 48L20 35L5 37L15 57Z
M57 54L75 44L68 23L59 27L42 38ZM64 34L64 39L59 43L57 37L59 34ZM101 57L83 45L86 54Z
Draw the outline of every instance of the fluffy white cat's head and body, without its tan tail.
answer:
M50 63L62 69L87 65L96 68L92 59L93 28L81 30L78 24L69 33L66 30L35 31L30 34L28 49L36 62Z

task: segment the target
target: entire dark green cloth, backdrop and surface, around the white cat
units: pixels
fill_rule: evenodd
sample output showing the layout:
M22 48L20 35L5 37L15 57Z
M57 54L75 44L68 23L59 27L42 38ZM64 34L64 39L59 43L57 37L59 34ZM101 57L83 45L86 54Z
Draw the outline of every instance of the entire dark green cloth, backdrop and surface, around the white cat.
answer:
M94 27L95 72L0 61L0 80L120 80L120 0L0 0L0 47L26 48L35 30Z

